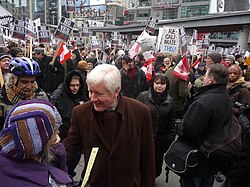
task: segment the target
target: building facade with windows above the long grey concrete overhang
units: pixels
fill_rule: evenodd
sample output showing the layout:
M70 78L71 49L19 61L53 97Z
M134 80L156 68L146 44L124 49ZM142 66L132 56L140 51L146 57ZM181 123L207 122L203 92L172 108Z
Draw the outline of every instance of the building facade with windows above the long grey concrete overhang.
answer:
M146 21L182 19L209 13L210 0L130 0L126 10L126 24Z

